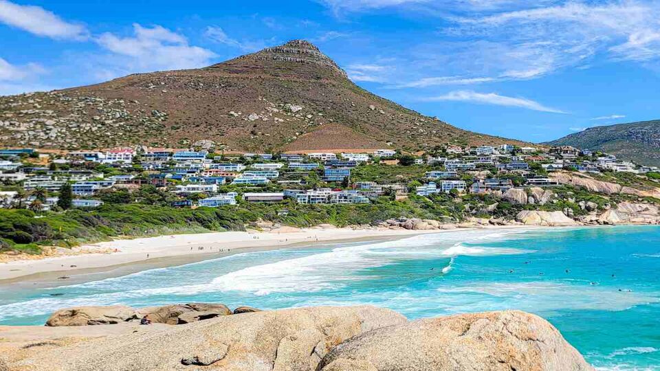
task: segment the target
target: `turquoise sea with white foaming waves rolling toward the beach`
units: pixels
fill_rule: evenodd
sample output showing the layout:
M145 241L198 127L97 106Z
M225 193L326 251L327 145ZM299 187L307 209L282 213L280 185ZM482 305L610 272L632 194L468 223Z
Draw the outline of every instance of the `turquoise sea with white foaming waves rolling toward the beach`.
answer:
M173 302L374 304L411 319L511 308L547 318L599 369L660 370L659 278L660 227L456 231L4 289L0 324L43 324L66 306Z

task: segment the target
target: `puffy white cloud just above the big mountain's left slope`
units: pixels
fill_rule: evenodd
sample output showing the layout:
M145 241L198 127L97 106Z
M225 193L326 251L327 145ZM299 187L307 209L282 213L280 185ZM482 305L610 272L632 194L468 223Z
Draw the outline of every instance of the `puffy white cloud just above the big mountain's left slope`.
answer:
M204 67L216 56L214 52L188 44L185 36L165 27L142 27L133 24L133 36L120 37L110 32L101 34L96 42L115 56L109 67L117 74L188 69Z

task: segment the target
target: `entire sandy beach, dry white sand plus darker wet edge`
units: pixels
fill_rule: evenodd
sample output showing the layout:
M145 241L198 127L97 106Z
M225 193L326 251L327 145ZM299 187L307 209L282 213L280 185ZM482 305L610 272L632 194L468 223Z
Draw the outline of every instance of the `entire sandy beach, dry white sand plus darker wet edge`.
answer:
M530 226L491 226L486 229L514 229ZM482 227L483 228L483 227ZM0 263L0 286L8 284L76 284L97 278L123 276L146 269L172 267L201 260L221 258L249 251L285 247L312 246L324 243L358 242L387 238L405 238L419 234L455 232L461 229L386 229L386 228L307 228L285 227L270 232L210 232L175 234L157 237L112 240L83 245L81 251L102 253L45 257L38 260L14 260Z

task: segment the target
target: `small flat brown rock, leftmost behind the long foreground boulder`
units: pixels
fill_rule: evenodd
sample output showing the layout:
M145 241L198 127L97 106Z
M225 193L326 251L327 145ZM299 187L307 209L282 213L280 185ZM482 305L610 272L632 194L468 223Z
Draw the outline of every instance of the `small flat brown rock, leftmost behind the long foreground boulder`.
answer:
M137 318L130 306L78 306L60 309L46 321L46 326L87 326L118 324Z

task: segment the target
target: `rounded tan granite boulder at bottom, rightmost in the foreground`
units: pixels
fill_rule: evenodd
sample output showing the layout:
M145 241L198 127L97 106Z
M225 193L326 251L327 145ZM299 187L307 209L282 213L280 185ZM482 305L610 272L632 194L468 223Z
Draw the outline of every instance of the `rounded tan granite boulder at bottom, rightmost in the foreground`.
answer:
M594 370L544 319L520 311L378 328L332 348L320 371Z

